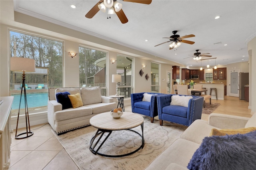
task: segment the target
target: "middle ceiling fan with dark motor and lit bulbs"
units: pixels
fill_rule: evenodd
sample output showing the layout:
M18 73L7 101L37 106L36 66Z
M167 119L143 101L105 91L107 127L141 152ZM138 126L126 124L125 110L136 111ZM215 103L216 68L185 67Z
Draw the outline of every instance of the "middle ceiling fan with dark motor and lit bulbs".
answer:
M187 43L187 44L194 44L195 43L193 41L184 40L184 38L195 37L195 35L190 34L190 35L184 35L184 36L180 37L180 35L176 34L177 32L178 31L172 31L172 33L174 35L172 35L170 37L163 37L163 38L170 39L170 41L166 41L164 43L168 43L168 42L172 41L172 43L169 45L170 50L179 47L181 45L181 43ZM161 43L161 44L158 44L158 45L162 45L164 43ZM158 45L155 45L154 47L156 47Z

